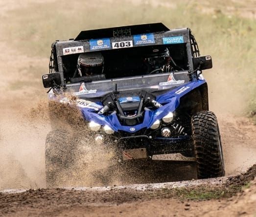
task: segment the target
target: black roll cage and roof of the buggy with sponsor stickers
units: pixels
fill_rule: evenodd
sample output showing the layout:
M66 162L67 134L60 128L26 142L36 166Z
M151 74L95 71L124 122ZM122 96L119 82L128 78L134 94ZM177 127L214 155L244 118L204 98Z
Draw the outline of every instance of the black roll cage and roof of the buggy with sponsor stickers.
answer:
M141 40L138 41L138 36ZM146 43L142 43L142 37L150 38ZM136 41L137 40L137 41ZM122 45L122 42L131 42L132 47L114 47L116 45ZM102 43L103 45L97 45ZM75 39L70 39L67 41L55 41L51 46L51 56L49 62L49 73L59 72L61 76L61 85L70 83L70 76L76 67L76 60L80 53L95 52L100 51L103 53L106 59L115 59L112 56L120 57L132 53L138 53L138 50L147 50L147 47L157 47L157 46L167 46L172 47L171 56L179 62L177 53L182 56L183 67L188 70L188 76L191 80L195 75L193 71L195 70L193 66L193 58L200 56L200 51L194 36L191 34L189 28L178 28L178 29L168 29L163 23L151 23L151 24L141 24L141 25L131 25L131 26L121 26L115 28L106 29L96 29L82 31ZM95 49L94 49L95 48ZM118 49L122 48L122 49ZM79 50L80 49L80 50ZM176 54L175 54L175 51ZM115 55L114 55L115 54ZM132 56L132 55L131 55ZM120 61L107 61L106 68L112 71L113 65L115 68L118 66ZM133 61L128 63L128 66L132 64ZM181 63L180 63L181 64ZM137 66L135 66L136 68ZM131 70L127 68L128 71ZM117 70L118 71L118 70ZM131 74L125 74L125 70L120 70L122 73L117 73L118 75L131 76ZM108 78L111 78L109 73ZM134 69L134 75L140 74L140 67L138 66L136 70ZM114 76L114 77L115 77Z

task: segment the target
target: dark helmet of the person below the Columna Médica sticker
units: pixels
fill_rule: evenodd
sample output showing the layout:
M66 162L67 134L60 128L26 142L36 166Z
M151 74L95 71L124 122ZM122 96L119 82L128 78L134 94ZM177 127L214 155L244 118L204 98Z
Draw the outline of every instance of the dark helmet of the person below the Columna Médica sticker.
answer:
M170 61L170 52L166 47L152 48L150 54L144 59L151 70L161 68Z

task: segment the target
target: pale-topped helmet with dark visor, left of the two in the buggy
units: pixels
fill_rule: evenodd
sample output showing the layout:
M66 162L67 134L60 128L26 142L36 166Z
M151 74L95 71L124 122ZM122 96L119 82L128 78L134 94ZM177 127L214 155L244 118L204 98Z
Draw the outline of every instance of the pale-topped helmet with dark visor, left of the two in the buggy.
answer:
M100 52L82 53L77 60L80 76L99 75L103 72L104 59Z

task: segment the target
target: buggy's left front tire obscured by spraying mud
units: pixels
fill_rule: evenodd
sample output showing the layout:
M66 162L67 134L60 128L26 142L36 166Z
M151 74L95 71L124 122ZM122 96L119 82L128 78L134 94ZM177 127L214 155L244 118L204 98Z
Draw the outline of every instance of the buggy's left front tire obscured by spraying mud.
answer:
M47 188L57 187L60 178L74 162L75 146L71 135L65 130L50 131L46 138L46 183Z

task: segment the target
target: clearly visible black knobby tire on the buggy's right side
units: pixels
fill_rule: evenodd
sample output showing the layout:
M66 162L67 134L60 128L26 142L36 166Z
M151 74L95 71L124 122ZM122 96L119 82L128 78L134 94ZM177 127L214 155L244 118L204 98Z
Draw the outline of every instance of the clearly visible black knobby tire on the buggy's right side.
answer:
M191 122L198 178L224 176L222 145L215 114L200 111L192 117Z

